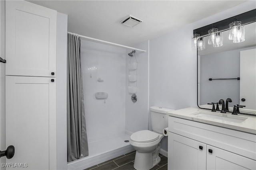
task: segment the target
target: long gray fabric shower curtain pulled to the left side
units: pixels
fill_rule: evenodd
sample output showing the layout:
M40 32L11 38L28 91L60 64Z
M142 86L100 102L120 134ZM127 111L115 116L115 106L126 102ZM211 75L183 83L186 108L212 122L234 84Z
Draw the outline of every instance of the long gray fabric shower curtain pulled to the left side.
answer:
M84 113L83 78L80 63L80 37L68 33L67 138L68 162L88 156Z

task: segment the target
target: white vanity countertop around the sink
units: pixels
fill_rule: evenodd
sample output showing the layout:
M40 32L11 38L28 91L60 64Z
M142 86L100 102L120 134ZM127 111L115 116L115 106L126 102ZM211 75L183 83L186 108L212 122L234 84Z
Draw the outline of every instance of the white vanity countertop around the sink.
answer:
M209 115L221 115L222 117L231 117L231 118L241 118L241 123L227 121L225 119L215 119L214 117L198 117L197 113L206 113ZM247 115L231 115L231 113L220 113L208 111L206 109L188 107L185 109L178 109L174 111L168 111L166 113L169 116L178 117L182 119L188 119L191 121L197 121L201 123L206 123L210 125L215 125L219 127L225 127L228 129L234 129L238 131L243 131L246 133L256 134L256 116L247 116Z

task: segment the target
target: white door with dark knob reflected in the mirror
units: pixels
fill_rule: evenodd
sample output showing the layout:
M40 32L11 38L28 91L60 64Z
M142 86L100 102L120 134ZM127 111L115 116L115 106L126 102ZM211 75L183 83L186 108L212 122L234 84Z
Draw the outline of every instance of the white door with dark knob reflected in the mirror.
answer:
M240 105L256 109L256 49L240 51Z

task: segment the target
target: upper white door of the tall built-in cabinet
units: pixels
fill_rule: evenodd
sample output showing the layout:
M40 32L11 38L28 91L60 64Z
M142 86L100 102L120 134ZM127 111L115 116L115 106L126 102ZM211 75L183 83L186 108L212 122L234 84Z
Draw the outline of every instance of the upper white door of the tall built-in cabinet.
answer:
M54 10L6 1L6 75L56 76L56 18Z

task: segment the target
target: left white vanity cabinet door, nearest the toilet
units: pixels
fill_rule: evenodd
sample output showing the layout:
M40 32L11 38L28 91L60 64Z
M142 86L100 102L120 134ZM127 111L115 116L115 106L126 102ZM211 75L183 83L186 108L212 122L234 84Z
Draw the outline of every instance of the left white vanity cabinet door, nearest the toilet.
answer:
M168 132L168 170L206 169L206 144Z

